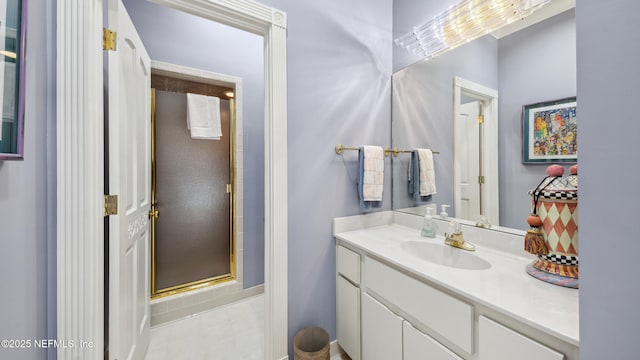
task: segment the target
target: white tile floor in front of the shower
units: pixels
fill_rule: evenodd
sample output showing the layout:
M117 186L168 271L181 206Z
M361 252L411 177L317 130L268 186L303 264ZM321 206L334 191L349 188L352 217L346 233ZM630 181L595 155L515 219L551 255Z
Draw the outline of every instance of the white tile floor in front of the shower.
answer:
M264 294L151 328L146 360L264 359Z

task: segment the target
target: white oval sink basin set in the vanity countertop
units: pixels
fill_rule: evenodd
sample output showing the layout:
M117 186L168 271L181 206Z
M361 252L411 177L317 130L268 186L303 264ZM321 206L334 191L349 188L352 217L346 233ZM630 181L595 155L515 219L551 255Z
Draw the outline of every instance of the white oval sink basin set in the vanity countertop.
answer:
M465 270L486 270L491 267L488 261L449 245L406 241L400 244L400 248L412 256L434 264Z

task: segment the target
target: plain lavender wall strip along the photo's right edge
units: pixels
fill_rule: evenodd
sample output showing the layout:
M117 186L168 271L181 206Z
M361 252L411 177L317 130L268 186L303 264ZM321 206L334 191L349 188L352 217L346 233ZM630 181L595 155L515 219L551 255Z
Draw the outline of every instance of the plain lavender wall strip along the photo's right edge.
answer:
M640 354L640 3L579 1L580 359Z

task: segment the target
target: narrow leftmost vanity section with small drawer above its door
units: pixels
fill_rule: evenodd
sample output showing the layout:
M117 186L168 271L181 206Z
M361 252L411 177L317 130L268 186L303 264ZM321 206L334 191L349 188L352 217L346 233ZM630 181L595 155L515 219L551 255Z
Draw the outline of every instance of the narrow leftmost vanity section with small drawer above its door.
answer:
M336 247L336 332L342 349L360 360L360 255Z

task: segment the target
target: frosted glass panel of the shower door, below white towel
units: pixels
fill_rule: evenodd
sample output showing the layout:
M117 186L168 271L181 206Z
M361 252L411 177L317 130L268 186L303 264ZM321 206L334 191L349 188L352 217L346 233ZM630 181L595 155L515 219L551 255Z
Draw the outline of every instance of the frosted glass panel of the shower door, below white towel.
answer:
M230 102L220 140L192 139L187 96L156 90L154 292L232 278Z

